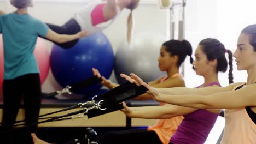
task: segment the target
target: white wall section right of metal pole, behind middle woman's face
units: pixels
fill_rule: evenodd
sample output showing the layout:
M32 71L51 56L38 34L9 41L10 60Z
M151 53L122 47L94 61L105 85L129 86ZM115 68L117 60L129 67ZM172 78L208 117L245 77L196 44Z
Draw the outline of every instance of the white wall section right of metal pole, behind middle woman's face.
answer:
M217 2L214 0L187 1L185 10L185 39L189 40L193 46L194 56L194 51L202 39L217 36ZM187 87L196 87L203 83L203 77L195 74L188 57L185 60L184 76Z

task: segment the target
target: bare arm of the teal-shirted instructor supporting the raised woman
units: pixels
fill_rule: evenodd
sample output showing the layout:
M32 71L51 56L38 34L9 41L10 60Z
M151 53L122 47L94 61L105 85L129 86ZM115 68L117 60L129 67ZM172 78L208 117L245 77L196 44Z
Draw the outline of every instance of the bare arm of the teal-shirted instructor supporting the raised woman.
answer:
M87 36L87 33L83 31L78 32L77 34L67 35L67 34L58 34L52 31L51 29L49 29L45 37L51 41L55 41L56 43L61 44L61 43L66 43L68 41L72 41L72 40L79 39L86 36Z

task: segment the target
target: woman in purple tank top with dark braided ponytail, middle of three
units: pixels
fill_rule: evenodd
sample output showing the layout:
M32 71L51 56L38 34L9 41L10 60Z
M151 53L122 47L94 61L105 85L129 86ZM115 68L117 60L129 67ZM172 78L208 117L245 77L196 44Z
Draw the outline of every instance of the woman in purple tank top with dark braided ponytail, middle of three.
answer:
M220 87L218 71L226 71L228 66L225 52L224 45L217 39L203 39L199 43L195 51L196 59L193 62L193 66L196 74L203 76L205 82L196 88ZM229 80L232 82L232 53L228 51L228 54L230 56ZM130 80L130 77L123 76L127 80ZM127 107L124 104L124 107L125 109L123 111L127 116L136 118L171 118L183 115L184 119L182 123L167 141L167 143L174 144L205 143L219 115L219 110L191 109L189 107L170 104L150 107Z

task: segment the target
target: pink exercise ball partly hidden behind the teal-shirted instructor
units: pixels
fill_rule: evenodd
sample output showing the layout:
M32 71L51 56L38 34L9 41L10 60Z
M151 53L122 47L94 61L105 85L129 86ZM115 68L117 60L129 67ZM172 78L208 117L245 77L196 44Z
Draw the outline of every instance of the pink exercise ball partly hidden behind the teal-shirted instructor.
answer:
M50 68L50 54L48 52L48 46L44 43L42 38L37 39L36 47L34 49L34 55L38 63L40 70L41 84L45 81L49 73ZM3 76L4 76L4 56L3 56L3 39L0 35L0 91L3 88Z

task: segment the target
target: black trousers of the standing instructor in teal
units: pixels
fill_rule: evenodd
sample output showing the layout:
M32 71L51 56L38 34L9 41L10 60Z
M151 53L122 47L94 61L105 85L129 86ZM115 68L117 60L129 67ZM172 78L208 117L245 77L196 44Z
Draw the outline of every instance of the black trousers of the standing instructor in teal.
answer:
M41 85L39 74L27 74L13 80L3 81L3 116L2 129L4 131L12 129L18 115L21 98L24 97L24 109L26 125L38 122L41 104ZM26 134L22 138L30 139L30 133L37 130L37 125L27 127ZM9 140L15 137L8 134ZM7 137L5 137L7 138ZM8 141L9 141L8 140ZM32 142L32 141L31 141ZM8 143L11 143L10 141ZM22 142L21 142L22 143Z

